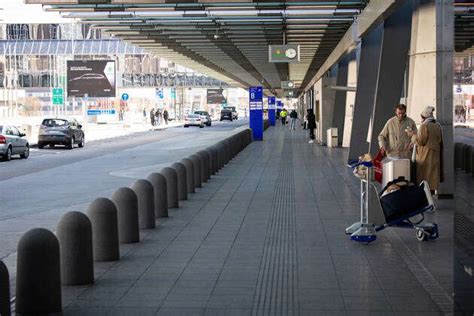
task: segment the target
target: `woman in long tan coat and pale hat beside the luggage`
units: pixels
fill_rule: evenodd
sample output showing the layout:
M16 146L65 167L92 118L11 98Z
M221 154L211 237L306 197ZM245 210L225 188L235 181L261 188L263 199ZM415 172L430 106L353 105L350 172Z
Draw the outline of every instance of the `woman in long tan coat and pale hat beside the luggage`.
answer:
M441 125L433 117L434 107L428 106L421 112L418 133L407 130L412 143L416 145L416 180L426 180L432 191L443 182L443 134Z

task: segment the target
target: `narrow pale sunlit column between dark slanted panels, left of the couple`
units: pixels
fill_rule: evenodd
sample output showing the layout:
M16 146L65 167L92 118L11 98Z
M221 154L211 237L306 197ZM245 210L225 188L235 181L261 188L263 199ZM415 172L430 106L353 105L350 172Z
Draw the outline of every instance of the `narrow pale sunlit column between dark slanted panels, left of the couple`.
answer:
M357 86L357 59L356 52L349 54L349 62L347 65L347 86ZM354 117L354 103L355 103L355 92L346 92L346 111L344 116L344 130L342 135L342 147L349 147L351 142L351 130L352 130L352 119Z

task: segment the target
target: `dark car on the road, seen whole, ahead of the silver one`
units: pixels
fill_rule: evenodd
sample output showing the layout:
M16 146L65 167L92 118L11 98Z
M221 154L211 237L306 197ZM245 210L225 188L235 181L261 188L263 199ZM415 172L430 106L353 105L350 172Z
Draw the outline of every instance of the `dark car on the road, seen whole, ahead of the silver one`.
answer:
M65 145L73 149L74 145L85 145L85 135L82 125L75 119L47 118L41 123L38 135L38 148L46 145Z

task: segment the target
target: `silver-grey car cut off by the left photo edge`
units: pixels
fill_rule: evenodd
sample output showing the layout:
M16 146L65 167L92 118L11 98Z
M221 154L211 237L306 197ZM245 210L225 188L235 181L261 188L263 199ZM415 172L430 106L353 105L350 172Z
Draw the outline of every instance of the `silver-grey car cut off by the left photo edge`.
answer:
M0 125L0 156L2 160L9 161L13 155L28 158L30 146L26 135L21 133L15 126Z

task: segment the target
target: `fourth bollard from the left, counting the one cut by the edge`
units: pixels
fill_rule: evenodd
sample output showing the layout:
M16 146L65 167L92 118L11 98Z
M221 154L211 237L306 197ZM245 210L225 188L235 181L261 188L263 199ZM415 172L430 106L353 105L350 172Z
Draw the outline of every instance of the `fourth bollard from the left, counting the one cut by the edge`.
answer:
M87 209L92 223L92 249L94 261L120 259L117 207L106 198L92 201Z

